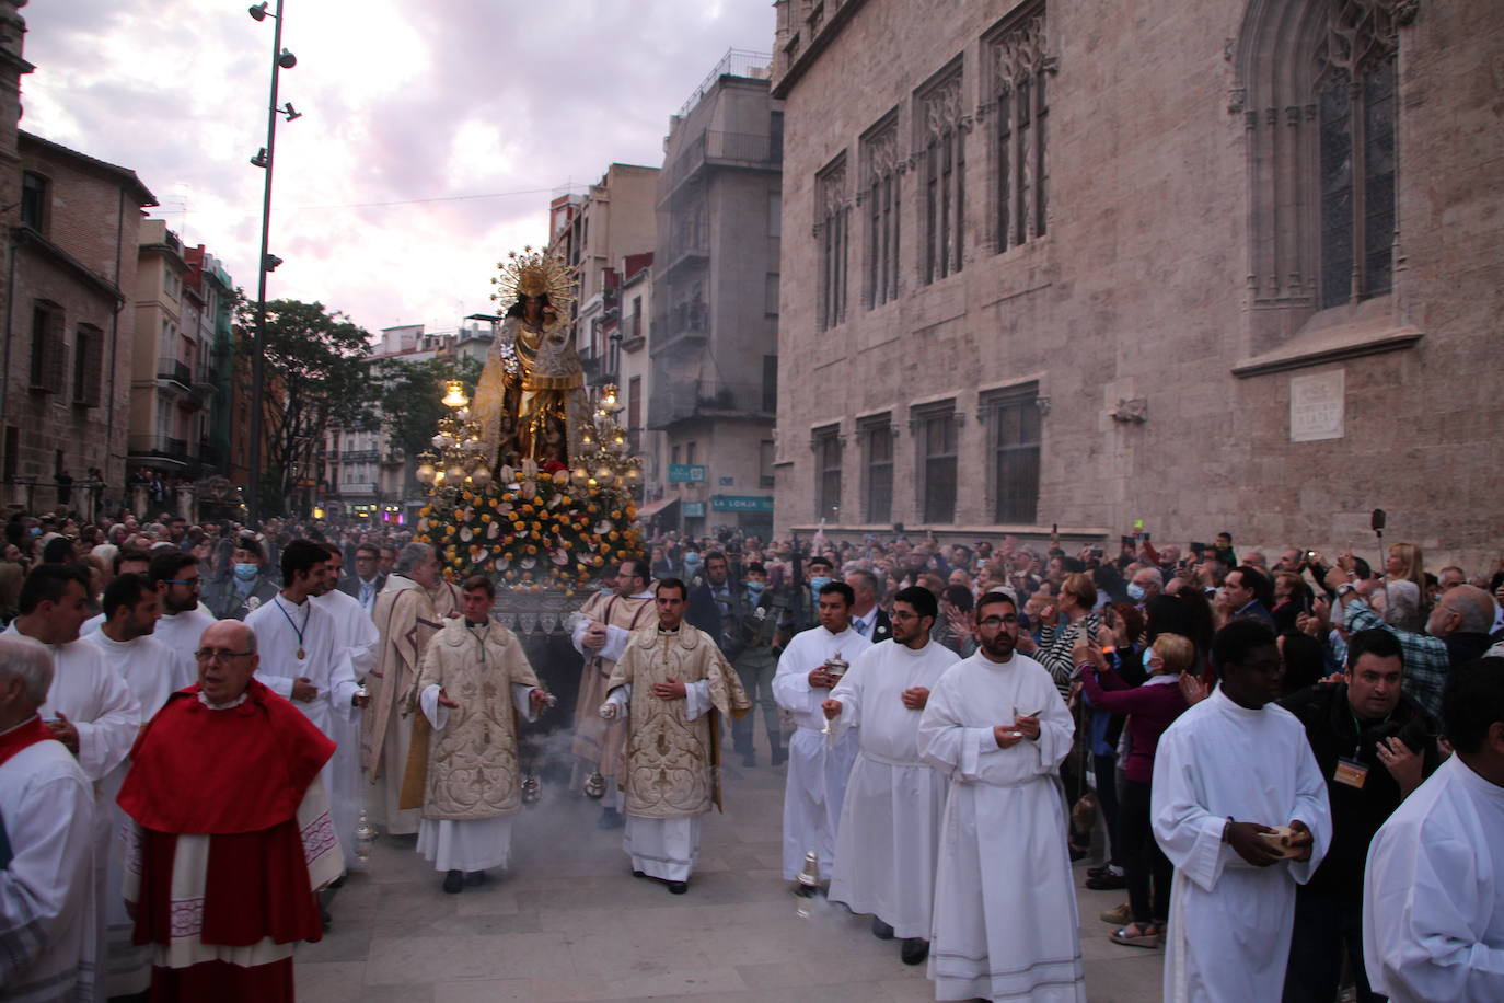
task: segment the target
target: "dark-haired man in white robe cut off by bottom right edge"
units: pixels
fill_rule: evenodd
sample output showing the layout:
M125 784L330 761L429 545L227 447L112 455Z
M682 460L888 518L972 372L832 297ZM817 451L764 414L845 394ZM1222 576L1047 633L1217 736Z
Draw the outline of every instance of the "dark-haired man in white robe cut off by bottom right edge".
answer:
M1447 674L1454 755L1373 838L1363 958L1396 1003L1504 1000L1504 659Z

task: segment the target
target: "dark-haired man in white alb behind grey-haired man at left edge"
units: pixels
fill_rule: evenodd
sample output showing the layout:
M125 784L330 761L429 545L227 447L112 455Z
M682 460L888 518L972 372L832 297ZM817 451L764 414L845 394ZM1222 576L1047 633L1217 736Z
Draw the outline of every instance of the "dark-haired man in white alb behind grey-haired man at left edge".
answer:
M21 586L20 615L6 633L32 638L53 656L53 686L42 704L42 722L78 759L95 792L93 895L89 901L90 962L105 958L105 902L108 862L114 850L110 774L125 762L141 726L141 708L125 678L78 629L89 620L89 577L78 567L42 564ZM93 989L96 970L80 971L80 982Z

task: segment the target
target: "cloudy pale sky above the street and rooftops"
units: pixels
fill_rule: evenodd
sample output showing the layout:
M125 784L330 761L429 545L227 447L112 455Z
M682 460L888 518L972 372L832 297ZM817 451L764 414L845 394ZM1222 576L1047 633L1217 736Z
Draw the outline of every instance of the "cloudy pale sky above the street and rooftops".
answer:
M33 0L21 128L135 170L186 244L256 295L272 20L248 0ZM275 11L275 0L272 9ZM507 250L668 117L770 0L286 0L268 298L376 331L489 311Z

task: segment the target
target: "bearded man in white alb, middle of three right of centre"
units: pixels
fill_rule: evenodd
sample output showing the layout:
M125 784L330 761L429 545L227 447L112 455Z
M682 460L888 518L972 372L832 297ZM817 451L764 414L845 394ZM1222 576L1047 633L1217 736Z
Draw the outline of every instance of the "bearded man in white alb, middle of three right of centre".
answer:
M893 595L892 638L851 663L823 704L832 728L859 725L860 749L836 832L830 901L872 914L880 938L902 938L904 964L929 952L946 776L919 758L919 719L955 653L929 639L938 614L920 586Z

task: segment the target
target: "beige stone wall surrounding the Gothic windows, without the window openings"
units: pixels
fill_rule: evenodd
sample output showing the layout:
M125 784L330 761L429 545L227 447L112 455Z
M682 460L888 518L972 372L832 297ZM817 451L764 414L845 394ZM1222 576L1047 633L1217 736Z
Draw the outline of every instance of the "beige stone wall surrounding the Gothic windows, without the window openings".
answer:
M1241 544L1331 550L1372 547L1369 511L1382 507L1387 538L1492 568L1504 132L1489 68L1504 23L1486 5L1421 5L1397 27L1393 293L1328 311L1275 307L1250 286L1259 164L1250 164L1248 113L1281 122L1295 113L1239 107L1248 93L1239 41L1275 8L1316 2L1051 3L1047 227L1002 253L997 114L984 81L996 59L990 33L1021 5L866 0L827 23L823 48L811 54L806 38L803 62L785 60L775 80L787 116L779 532L814 522L811 430L829 423L845 435L841 511L862 511L856 429L878 412L899 430L892 520L923 525L910 408L943 400L955 402L960 469L955 519L935 528L1003 529L991 418L979 405L987 391L1038 383L1038 514L1009 529L1048 532L1057 522L1116 535L1143 519L1157 540L1227 528ZM914 93L957 59L964 266L923 284ZM908 158L899 295L868 308L860 137L895 110ZM842 152L857 168L853 281L844 323L820 331L815 176ZM1316 424L1340 414L1340 438L1292 441L1304 438L1292 436L1292 385L1310 389L1305 377L1339 371L1336 397L1327 386L1301 414Z

